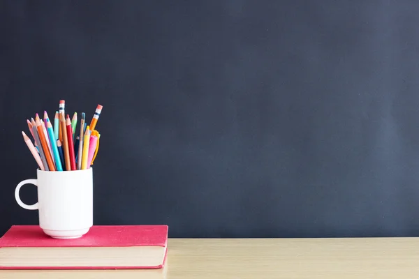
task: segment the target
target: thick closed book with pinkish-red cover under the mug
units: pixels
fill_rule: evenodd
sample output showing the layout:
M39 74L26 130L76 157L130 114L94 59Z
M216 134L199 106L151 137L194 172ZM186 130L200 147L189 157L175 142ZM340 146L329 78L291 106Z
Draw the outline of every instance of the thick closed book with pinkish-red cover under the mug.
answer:
M93 226L80 239L17 225L0 239L0 269L160 269L167 245L167 225Z

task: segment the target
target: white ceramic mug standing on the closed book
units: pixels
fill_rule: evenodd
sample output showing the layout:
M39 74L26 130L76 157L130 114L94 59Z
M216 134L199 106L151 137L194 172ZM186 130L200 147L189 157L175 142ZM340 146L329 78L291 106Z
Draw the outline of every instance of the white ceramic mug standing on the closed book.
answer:
M87 234L93 225L92 168L62 172L37 169L37 177L17 184L17 204L37 209L39 226L55 239L76 239ZM20 199L20 188L28 183L38 186L36 204L27 205Z

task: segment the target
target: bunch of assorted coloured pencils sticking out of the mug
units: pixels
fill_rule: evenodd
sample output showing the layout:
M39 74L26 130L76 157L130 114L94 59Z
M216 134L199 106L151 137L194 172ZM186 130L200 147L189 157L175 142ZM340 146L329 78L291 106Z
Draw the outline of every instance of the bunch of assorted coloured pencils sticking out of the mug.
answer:
M70 120L70 116L65 114L65 108L65 100L60 100L59 111L55 112L54 125L46 111L44 111L43 119L38 114L35 115L35 119L27 119L34 143L22 131L24 142L41 170L62 172L88 169L93 165L98 153L101 134L95 128L101 115L102 106L96 107L90 125L87 125L86 114L83 112L80 128L77 128L77 112Z

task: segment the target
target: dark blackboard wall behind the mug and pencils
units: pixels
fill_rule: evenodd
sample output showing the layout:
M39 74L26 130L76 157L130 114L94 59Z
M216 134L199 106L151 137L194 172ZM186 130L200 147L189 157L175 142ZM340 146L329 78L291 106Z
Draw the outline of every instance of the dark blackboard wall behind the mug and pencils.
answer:
M47 110L103 112L94 223L417 236L418 1L1 1L0 232ZM36 187L22 188L36 202Z

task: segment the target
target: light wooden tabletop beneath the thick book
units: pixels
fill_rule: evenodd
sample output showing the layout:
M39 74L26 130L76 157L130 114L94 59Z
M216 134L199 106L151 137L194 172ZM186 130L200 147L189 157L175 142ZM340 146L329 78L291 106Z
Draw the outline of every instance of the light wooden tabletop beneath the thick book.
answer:
M419 278L419 239L170 239L164 269L0 271L8 278Z

